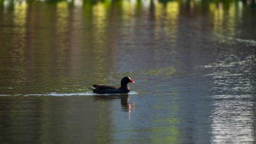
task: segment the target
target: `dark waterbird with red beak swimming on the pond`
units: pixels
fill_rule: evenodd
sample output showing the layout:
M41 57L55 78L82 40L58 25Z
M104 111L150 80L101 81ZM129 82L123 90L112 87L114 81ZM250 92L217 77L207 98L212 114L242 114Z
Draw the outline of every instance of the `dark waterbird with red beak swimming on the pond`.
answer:
M125 94L129 93L128 83L135 83L130 77L123 77L121 79L121 87L93 85L91 89L97 94Z

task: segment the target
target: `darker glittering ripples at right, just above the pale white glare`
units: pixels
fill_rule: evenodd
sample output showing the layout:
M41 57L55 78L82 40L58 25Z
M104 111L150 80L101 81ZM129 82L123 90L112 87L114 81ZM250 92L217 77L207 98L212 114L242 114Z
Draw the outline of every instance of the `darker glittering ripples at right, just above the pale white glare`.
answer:
M214 86L212 89L217 93L230 94L251 94L254 86L249 77L254 75L255 56L246 56L241 59L231 55L219 60L216 64L205 66L212 69L213 73L207 76L213 77Z

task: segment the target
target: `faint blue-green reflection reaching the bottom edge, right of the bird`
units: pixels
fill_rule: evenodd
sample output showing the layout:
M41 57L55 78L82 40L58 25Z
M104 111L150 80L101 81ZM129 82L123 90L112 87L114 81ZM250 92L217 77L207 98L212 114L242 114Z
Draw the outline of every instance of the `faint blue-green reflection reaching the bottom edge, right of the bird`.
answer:
M178 124L182 121L177 118L177 115L180 111L178 105L179 93L177 90L172 91L170 94L159 94L157 95L159 99L161 96L167 95L170 96L170 102L157 102L162 105L154 106L154 109L157 111L162 111L165 113L156 113L156 118L154 120L154 126L152 128L152 143L181 143L182 135L181 129L179 129ZM165 101L164 99L162 99ZM167 110L167 111L166 111Z

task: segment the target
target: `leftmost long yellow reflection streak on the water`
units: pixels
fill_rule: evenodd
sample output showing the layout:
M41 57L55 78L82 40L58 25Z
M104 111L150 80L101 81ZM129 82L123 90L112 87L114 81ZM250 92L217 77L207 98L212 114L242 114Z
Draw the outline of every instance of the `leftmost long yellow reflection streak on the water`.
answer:
M10 40L10 45L7 47L10 49L10 55L12 60L12 69L14 77L12 77L12 83L22 85L25 81L25 50L26 50L26 15L27 15L27 5L25 1L15 4L13 6L13 16L12 22L14 27L12 31Z

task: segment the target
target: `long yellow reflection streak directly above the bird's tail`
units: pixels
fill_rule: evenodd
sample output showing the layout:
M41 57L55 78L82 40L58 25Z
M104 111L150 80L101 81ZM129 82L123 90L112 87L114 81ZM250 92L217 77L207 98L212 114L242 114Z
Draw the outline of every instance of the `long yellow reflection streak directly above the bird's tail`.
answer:
M105 80L104 72L108 72L110 69L111 62L110 58L112 57L112 51L108 44L108 27L111 23L108 23L108 11L110 3L108 1L98 2L94 4L91 9L92 14L92 29L89 30L90 39L91 39L91 54L93 55L91 62L93 64L94 71L98 73L97 77L99 80ZM101 82L104 83L104 82Z

